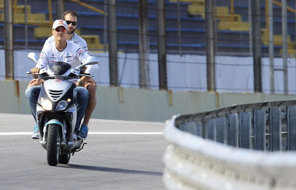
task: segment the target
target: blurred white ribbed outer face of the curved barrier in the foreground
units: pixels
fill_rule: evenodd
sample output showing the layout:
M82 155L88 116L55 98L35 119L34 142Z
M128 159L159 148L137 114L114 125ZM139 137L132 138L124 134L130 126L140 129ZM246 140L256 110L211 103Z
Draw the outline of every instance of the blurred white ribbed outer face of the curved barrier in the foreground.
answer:
M237 148L165 124L167 190L296 190L296 152Z

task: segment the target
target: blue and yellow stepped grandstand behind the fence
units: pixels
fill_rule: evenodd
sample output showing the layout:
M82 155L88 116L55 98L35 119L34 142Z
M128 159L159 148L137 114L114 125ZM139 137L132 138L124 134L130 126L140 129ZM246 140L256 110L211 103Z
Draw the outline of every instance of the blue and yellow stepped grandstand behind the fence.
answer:
M48 0L38 3L27 0L28 43L30 47L41 48L44 40L51 35L52 20L59 18L55 11L55 2L51 2L52 12L48 8ZM99 10L108 10L104 0L80 0ZM16 48L23 48L25 30L24 0L17 0L13 9L14 42ZM248 54L250 53L250 32L248 17L248 0L235 0L233 14L230 0L217 0L217 53ZM288 1L289 7L295 7L295 1ZM138 52L139 7L138 0L116 0L118 50ZM281 56L281 7L274 4L274 52ZM67 10L76 10L79 14L78 34L87 41L90 50L104 50L108 44L108 21L104 14L65 0ZM3 0L0 0L0 35L3 36ZM268 34L266 30L265 1L261 1L261 39L262 53L268 54ZM291 8L293 9L293 8ZM108 11L107 11L108 12ZM150 50L157 51L157 14L156 1L148 0L148 25ZM52 15L52 18L50 18ZM179 16L178 16L179 15ZM169 53L205 53L205 1L204 0L167 0L165 1L166 43ZM178 21L180 26L178 27ZM296 54L295 13L288 11L288 47L289 54ZM106 44L104 44L106 43ZM3 45L3 38L0 38ZM106 49L105 49L106 50Z

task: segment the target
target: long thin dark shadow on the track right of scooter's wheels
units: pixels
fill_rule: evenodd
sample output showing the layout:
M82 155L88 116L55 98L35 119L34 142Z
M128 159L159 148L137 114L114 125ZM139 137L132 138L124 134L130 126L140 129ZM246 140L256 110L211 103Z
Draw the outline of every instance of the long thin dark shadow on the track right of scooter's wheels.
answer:
M92 171L101 171L101 172L115 172L115 173L123 173L123 174L142 174L142 175L162 176L161 172L148 172L148 171L140 171L140 170L127 170L127 169L121 169L121 168L108 168L108 167L86 166L86 165L76 165L76 164L67 164L67 165L60 164L56 167L74 168L74 169L92 170Z

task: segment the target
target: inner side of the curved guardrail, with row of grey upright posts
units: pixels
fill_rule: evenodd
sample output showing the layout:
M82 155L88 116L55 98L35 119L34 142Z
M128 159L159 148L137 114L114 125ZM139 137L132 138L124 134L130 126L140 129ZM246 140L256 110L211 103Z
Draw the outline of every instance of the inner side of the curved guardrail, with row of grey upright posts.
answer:
M180 130L234 147L296 150L296 100L233 105L178 116Z

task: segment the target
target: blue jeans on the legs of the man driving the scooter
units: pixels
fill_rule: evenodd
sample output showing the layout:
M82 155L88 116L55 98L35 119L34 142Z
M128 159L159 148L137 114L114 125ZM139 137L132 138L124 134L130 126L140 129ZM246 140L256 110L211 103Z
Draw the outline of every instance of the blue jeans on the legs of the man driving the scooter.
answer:
M41 90L41 86L34 86L34 87L29 87L25 92L32 115L35 119L35 122L37 122L36 107L37 107L37 101L38 101L40 90ZM76 119L76 125L75 125L76 131L79 131L80 123L87 106L88 96L89 96L88 91L84 87L75 88L74 102L77 108L77 119Z

